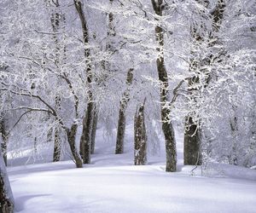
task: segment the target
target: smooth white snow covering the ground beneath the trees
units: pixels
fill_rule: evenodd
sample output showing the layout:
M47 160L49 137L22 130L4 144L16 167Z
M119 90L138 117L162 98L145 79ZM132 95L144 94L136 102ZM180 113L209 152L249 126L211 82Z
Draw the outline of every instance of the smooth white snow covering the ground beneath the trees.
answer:
M211 164L210 169L183 166L177 140L178 171L165 172L164 149L134 166L131 126L125 153L115 155L114 141L99 131L92 164L75 169L72 161L8 168L16 212L256 212L256 170ZM177 137L182 138L182 137ZM22 162L22 160L20 161Z

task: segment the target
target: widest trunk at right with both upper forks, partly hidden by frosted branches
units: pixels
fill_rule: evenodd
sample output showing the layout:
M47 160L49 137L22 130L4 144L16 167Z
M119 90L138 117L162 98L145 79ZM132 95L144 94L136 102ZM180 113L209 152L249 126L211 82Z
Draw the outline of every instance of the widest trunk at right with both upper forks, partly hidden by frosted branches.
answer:
M218 39L218 31L222 25L224 19L224 10L226 7L225 0L218 0L215 8L211 11L211 14L207 14L207 7L209 1L207 0L196 0L200 3L202 8L199 13L201 16L209 17L212 20L212 30L209 35L205 35L207 32L207 27L202 21L199 23L196 21L190 26L190 34L193 39L192 43L201 49L201 45L208 43L208 49L214 48L215 45L220 45ZM213 51L214 52L214 51ZM192 72L192 77L189 78L189 93L195 95L199 92L200 87L197 85L201 84L201 87L207 87L209 81L211 80L211 73L205 67L211 66L212 60L217 61L220 55L224 54L224 49L220 49L216 54L210 52L206 57L198 57L198 53L191 51L189 72ZM201 53L200 53L201 54ZM204 72L206 78L199 78L199 73ZM196 103L196 98L193 99ZM189 113L185 118L185 130L184 130L184 164L195 165L201 164L201 125L200 120L195 118L195 112Z

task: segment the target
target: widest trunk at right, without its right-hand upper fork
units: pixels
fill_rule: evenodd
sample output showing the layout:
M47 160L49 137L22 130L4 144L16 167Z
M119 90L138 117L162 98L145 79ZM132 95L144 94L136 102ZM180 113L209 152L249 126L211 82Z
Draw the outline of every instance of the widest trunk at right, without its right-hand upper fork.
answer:
M191 43L194 44L194 49L191 50L191 58L189 64L189 72L192 72L192 77L188 80L188 92L197 93L200 89L197 85L200 83L198 72L203 66L203 61L201 61L201 49L203 43L207 39L207 26L204 20L209 17L207 15L207 7L209 5L208 1L196 1L199 6L196 8L198 14L201 15L201 19L193 20L190 26L190 33L192 37ZM205 84L207 84L209 78L203 79ZM196 98L193 100L196 102ZM201 127L198 124L200 121L196 121L196 112L189 112L185 118L184 124L184 147L183 147L183 159L184 165L200 165L201 164Z

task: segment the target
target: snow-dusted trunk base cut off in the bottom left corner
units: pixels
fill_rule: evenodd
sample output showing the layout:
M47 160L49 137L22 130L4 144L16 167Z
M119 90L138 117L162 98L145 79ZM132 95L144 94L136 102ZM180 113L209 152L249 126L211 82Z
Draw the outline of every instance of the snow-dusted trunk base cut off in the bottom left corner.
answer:
M9 184L9 178L3 162L3 154L0 152L0 212L14 212L14 198Z

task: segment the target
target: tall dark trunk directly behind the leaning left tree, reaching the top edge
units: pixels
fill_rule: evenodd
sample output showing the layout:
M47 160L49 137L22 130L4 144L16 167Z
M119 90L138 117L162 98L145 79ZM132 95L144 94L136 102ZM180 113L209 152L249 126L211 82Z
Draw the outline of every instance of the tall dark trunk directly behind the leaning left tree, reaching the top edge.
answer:
M83 5L80 0L73 1L83 30L84 44L89 43L89 31L87 28L87 22L84 15ZM91 89L92 73L91 73L91 61L90 61L90 49L84 49L85 66L86 66L86 83L88 86L88 104L87 110L83 119L83 132L80 138L80 148L82 148L82 157L84 164L90 164L90 146L91 146L91 131L94 120L95 104Z

